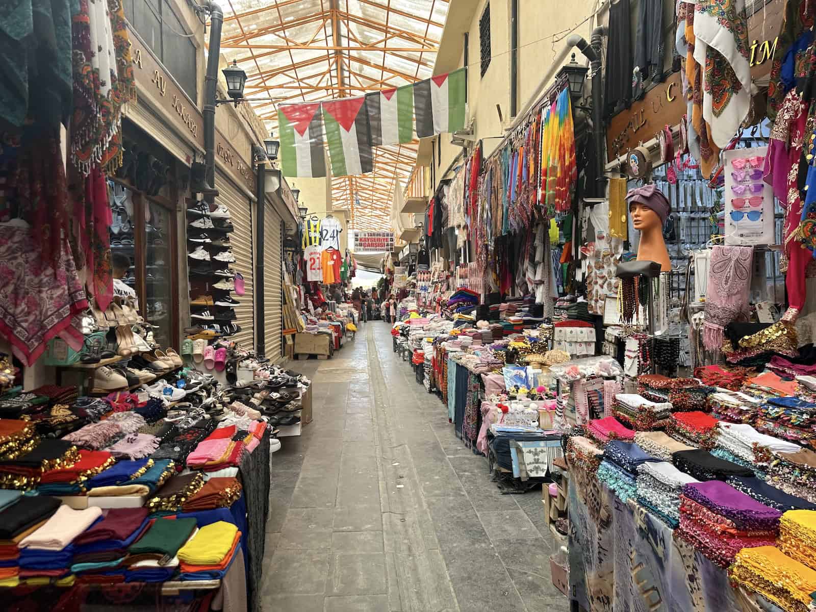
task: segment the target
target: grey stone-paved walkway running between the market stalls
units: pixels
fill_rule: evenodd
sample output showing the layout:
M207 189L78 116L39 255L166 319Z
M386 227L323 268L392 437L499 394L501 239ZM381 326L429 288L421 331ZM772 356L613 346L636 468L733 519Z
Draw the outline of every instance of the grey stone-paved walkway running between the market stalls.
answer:
M567 610L541 491L499 494L389 330L293 363L314 421L273 455L264 611Z

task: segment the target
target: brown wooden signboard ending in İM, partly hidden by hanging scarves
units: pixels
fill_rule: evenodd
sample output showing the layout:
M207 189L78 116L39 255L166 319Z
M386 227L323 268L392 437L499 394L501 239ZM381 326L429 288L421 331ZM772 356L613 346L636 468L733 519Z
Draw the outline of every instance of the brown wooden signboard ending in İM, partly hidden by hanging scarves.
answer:
M748 17L751 77L754 82L770 72L782 29L784 0L769 0ZM672 38L673 42L673 38ZM606 156L613 161L638 145L653 139L665 126L676 126L686 113L680 73L672 73L664 82L652 87L641 100L609 120L606 127Z

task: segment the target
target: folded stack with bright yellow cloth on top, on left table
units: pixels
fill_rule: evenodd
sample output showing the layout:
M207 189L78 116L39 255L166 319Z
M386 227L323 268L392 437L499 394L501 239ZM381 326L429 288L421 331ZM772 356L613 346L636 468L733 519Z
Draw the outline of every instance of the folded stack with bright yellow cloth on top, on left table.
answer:
M240 542L241 532L232 523L215 521L203 526L179 551L180 579L224 578Z

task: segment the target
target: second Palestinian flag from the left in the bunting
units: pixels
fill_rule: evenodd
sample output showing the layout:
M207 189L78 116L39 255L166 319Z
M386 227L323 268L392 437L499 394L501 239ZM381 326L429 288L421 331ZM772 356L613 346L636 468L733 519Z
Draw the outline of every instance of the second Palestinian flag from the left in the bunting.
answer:
M321 103L332 176L361 175L374 170L365 104L365 97Z

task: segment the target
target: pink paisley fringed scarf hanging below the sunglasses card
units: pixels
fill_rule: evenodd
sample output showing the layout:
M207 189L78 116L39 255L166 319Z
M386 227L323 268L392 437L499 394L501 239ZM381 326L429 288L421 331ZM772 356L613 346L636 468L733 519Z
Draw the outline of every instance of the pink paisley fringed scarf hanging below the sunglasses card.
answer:
M747 320L753 252L750 246L712 249L703 322L703 345L709 351L722 346L726 325Z

